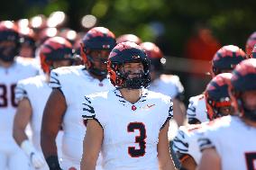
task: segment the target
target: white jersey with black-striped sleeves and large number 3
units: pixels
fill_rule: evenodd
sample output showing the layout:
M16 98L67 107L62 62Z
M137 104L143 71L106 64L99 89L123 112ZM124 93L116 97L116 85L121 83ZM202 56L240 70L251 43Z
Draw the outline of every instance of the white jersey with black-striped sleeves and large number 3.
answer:
M143 89L141 99L132 104L114 90L88 95L84 101L84 119L98 121L104 130L101 151L105 170L159 168L159 133L173 114L169 96Z

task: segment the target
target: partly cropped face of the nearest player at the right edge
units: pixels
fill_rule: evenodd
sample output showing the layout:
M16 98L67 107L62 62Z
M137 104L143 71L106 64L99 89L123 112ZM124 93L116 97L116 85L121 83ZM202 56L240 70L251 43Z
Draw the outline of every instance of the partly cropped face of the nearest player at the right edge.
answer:
M248 110L256 110L256 90L242 93L242 102Z

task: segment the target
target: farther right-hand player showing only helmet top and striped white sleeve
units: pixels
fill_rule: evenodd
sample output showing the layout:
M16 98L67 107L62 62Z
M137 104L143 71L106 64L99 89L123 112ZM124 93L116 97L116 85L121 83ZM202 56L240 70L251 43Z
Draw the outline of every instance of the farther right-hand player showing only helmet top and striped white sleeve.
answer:
M242 49L237 46L228 45L219 49L212 59L211 76L215 77L220 73L229 73L247 56ZM189 124L197 124L209 121L206 113L205 93L193 96L189 99L187 107L187 120Z

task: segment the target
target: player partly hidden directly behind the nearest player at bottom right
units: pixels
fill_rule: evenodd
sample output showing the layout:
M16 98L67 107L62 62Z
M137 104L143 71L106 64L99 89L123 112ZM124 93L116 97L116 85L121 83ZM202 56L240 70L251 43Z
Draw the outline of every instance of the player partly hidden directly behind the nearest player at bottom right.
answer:
M207 117L210 121L218 117L233 114L228 85L231 82L231 73L222 73L215 76L206 86ZM211 122L182 126L178 135L173 139L173 149L181 163L181 167L187 170L195 170L201 158L201 152L197 145L200 131L207 129Z

